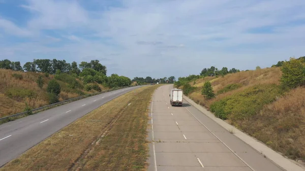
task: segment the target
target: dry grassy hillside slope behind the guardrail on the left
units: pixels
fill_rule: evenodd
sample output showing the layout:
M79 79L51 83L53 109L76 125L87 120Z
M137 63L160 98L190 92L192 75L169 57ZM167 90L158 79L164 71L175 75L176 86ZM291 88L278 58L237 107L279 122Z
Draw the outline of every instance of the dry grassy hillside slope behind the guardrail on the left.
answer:
M43 87L37 84L39 76L43 79ZM56 81L61 87L58 100L66 100L80 95L94 93L96 90L85 90L84 83L68 74L61 74L65 79ZM18 72L0 69L0 117L24 111L26 103L32 109L49 104L47 84L54 79L54 75L32 72ZM74 85L69 84L74 81ZM101 90L109 88L99 84Z

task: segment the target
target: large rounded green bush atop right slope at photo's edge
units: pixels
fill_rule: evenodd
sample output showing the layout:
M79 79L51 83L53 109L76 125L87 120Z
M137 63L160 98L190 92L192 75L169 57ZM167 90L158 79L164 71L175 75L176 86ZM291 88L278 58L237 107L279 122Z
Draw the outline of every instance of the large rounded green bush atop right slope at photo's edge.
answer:
M305 60L303 58L290 58L289 61L283 63L281 71L282 86L289 88L296 88L305 85Z

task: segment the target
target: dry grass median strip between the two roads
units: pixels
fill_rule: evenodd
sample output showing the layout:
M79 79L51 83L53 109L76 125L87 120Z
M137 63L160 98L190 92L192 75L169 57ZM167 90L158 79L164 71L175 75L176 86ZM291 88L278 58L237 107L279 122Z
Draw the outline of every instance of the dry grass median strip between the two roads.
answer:
M147 108L157 87L107 102L0 170L144 170Z

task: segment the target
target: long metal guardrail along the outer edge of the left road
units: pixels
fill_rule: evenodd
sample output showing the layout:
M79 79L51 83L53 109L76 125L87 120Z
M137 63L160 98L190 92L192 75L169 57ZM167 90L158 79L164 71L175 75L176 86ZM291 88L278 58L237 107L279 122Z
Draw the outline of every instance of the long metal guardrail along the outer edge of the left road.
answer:
M126 86L126 87L114 88L114 89L110 89L110 90L106 90L106 91L101 91L101 92L82 95L82 96L75 97L75 98L70 98L68 100L56 102L55 104L43 106L43 107L36 108L36 109L30 110L30 111L20 112L20 113L14 114L14 115L10 115L10 116L0 118L0 124L15 120L16 118L24 116L24 115L28 115L28 113L35 114L35 113L38 113L39 111L44 111L46 109L50 109L50 108L55 107L55 106L68 104L69 102L72 102L72 101L76 101L76 100L80 100L80 99L83 99L83 98L86 98L86 97L90 97L90 96L94 96L94 95L98 95L98 94L103 94L103 93L106 93L106 92L109 92L109 91L119 90L119 89L128 88L128 87L136 87L136 86Z

